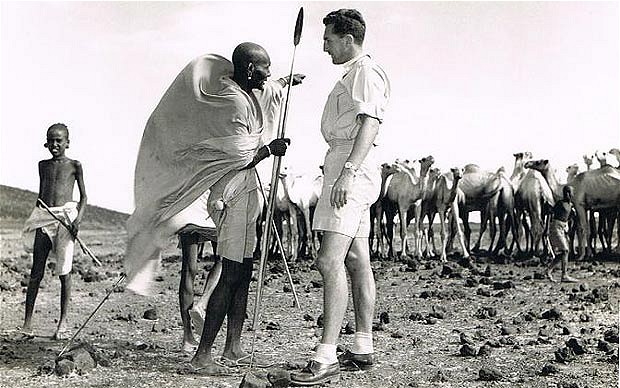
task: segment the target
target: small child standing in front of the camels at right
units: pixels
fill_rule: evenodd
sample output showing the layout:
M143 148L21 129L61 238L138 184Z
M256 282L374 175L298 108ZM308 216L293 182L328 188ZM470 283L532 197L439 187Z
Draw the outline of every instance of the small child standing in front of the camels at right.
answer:
M558 261L562 264L562 282L574 283L577 279L568 276L568 241L566 239L566 233L568 232L568 218L572 210L571 198L573 196L573 188L571 186L564 186L562 189L563 198L556 202L553 207L553 219L551 221L551 228L549 230L549 240L551 247L553 248L553 260L547 268L547 277L552 282L555 281L551 275L553 269L557 265Z

